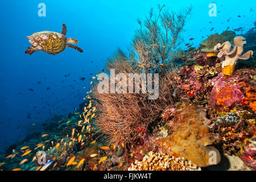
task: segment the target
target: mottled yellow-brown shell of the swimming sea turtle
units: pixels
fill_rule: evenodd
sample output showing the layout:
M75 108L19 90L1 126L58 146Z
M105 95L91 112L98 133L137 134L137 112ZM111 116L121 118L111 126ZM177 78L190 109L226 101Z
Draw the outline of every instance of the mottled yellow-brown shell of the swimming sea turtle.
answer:
M67 43L65 35L51 31L36 32L30 39L33 46L51 55L62 52Z

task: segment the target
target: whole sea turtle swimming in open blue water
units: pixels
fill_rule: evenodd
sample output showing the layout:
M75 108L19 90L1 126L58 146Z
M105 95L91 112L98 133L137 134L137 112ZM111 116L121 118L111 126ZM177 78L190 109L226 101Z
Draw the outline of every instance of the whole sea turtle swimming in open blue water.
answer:
M32 53L40 50L50 55L56 55L57 53L62 52L66 47L76 49L79 52L82 51L81 48L74 46L72 44L77 44L79 41L73 38L66 38L67 27L63 23L62 32L51 32L51 31L42 31L36 32L31 36L27 36L28 41L33 45L27 48L25 53L32 55ZM71 43L71 44L67 44Z

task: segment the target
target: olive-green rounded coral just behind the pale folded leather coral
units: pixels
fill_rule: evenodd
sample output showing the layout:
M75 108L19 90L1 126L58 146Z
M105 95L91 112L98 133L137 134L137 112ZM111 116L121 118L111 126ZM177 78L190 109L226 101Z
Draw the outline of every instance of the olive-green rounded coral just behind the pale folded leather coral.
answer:
M200 42L200 46L203 47L201 49L201 52L218 52L217 50L214 50L214 46L218 43L224 43L224 42L233 42L234 37L236 36L236 32L226 30L222 32L222 34L213 34L210 35L207 39Z

